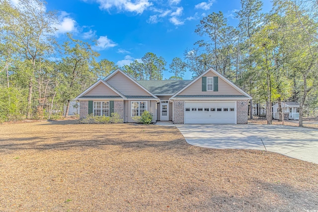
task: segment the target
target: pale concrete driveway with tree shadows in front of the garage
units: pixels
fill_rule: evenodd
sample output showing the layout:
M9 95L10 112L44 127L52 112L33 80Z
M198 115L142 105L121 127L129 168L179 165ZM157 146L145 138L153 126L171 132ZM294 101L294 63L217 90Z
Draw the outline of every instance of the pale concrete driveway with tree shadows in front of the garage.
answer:
M192 145L208 148L258 150L266 148L267 151L318 164L318 130L256 124L176 125L176 127Z

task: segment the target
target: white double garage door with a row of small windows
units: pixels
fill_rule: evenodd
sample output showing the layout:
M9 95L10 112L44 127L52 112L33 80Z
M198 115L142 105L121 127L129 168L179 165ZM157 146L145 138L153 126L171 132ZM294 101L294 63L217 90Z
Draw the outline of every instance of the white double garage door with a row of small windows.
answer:
M235 101L185 102L184 124L237 124Z

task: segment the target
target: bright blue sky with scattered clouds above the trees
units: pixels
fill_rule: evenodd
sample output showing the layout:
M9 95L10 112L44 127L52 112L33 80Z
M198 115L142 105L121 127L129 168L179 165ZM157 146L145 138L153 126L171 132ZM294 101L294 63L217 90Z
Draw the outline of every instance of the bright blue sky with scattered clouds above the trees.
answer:
M194 32L200 19L222 11L231 25L237 25L239 0L46 0L47 10L58 12L60 41L70 32L83 41L95 39L100 53L119 67L140 60L147 52L162 56L166 69L174 57L200 40ZM264 0L264 10L271 8ZM166 71L164 78L171 74ZM187 71L184 79L190 79Z

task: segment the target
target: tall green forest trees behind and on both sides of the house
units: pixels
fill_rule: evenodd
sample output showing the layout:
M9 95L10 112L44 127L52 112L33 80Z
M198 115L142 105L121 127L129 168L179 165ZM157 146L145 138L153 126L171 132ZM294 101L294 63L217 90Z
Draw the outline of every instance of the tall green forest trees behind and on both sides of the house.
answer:
M303 115L318 107L318 2L273 0L267 13L262 6L260 0L241 0L237 26L221 11L203 17L195 30L201 40L169 65L146 53L118 67L96 60L95 43L67 34L59 44L57 15L46 11L44 1L0 0L0 122L68 114L64 107L72 99L117 68L137 80L161 80L165 71L177 80L187 70L194 78L212 67L254 103L266 104L268 124L273 102L298 101L302 126Z

